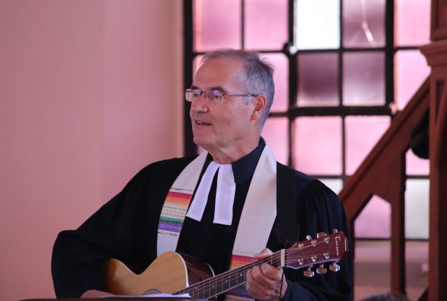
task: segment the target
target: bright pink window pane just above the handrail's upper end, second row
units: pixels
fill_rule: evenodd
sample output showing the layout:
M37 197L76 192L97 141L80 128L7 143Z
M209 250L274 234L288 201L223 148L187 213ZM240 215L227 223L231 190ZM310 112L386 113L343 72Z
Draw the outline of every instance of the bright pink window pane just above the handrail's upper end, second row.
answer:
M413 94L430 75L427 60L419 50L400 50L395 55L397 109L403 110Z

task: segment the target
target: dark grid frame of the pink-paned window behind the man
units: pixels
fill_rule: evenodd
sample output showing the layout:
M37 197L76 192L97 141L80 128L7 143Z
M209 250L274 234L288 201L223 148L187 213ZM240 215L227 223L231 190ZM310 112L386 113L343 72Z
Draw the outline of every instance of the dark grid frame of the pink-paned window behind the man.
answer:
M193 49L193 1L184 0L184 89L191 86L193 80L193 60L198 55L204 52L196 52ZM391 119L395 116L395 112L391 109L390 104L395 100L395 53L399 50L417 50L418 47L406 46L396 47L394 36L394 16L395 16L395 1L386 0L385 3L385 46L384 47L359 47L346 48L343 46L343 0L340 0L340 41L338 49L330 50L299 50L296 52L294 47L295 39L295 6L297 0L288 0L288 41L280 50L262 50L257 49L261 53L281 53L288 59L288 109L284 112L270 112L269 118L287 117L288 118L288 165L293 166L293 122L295 118L302 116L340 116L342 117L342 173L341 175L312 175L321 179L342 179L346 182L349 175L346 175L346 137L345 137L345 118L346 116L388 116ZM245 0L240 0L241 5L241 45L244 48L244 7ZM385 55L384 81L385 81L385 103L383 105L374 106L352 106L343 105L343 54L346 52L383 52ZM298 107L296 105L296 98L298 95L298 55L301 53L318 53L318 52L337 52L338 55L338 90L339 90L339 105L330 107ZM197 154L197 147L193 143L193 133L191 129L191 122L189 119L190 103L184 102L184 155L192 156ZM426 176L408 176L407 178L427 178Z

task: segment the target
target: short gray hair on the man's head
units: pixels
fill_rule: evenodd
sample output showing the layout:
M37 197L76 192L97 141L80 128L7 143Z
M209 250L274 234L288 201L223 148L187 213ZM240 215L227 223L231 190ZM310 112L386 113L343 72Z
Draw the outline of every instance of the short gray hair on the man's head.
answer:
M210 59L237 58L244 62L241 84L245 87L247 94L263 94L267 98L267 105L261 117L260 129L263 128L273 103L274 83L273 67L258 52L249 50L219 49L208 52L200 61L200 65Z

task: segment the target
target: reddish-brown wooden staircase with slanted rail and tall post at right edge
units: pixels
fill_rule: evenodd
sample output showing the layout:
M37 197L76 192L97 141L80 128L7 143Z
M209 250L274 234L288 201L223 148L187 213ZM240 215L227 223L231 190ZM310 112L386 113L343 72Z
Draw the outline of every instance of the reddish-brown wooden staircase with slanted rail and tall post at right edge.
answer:
M420 48L432 68L406 108L339 193L351 225L373 195L391 205L390 288L405 293L405 154L411 133L430 110L428 288L419 300L447 300L447 1L432 0L432 43ZM353 242L355 243L355 242Z

